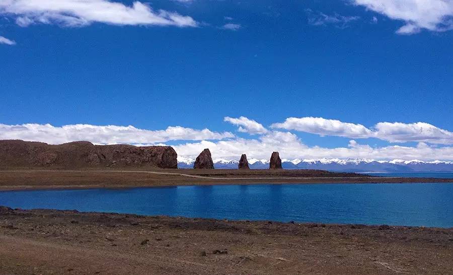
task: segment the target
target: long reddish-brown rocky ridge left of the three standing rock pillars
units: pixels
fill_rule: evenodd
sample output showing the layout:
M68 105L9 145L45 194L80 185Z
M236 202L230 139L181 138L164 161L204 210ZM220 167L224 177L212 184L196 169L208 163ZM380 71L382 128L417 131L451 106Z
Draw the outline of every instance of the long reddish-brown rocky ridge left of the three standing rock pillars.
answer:
M0 169L174 168L177 154L169 146L93 145L71 142L49 145L18 140L0 141Z

